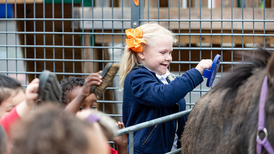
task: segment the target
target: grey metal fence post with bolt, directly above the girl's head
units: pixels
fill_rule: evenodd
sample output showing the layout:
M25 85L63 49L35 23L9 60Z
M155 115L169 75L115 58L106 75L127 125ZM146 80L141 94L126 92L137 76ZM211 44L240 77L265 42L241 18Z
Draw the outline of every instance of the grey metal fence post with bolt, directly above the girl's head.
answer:
M131 1L131 28L136 28L140 25L140 19L144 18L144 0L139 1L136 6L134 0Z

